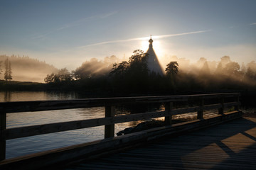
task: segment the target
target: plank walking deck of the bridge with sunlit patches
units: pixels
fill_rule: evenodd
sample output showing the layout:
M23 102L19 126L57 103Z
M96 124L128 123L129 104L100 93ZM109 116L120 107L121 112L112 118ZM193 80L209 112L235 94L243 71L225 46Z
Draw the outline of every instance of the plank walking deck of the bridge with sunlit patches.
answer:
M256 118L168 137L75 169L256 169Z

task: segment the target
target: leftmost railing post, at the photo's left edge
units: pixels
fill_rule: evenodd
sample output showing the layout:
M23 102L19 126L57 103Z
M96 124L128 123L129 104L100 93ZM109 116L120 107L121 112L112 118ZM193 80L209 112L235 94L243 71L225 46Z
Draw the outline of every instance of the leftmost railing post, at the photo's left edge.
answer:
M0 161L6 159L6 140L4 130L6 130L6 113L0 108Z

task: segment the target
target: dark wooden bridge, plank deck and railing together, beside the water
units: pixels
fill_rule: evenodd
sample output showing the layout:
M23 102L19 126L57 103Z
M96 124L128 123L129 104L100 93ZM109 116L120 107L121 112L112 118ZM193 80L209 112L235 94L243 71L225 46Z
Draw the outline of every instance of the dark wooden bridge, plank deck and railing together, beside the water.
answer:
M173 103L177 101L187 107L175 108ZM114 115L114 106L120 103L164 103L165 111ZM50 169L55 166L63 169L225 169L242 168L242 164L252 168L255 167L255 120L241 118L239 105L239 94L234 93L0 103L0 169ZM6 129L7 113L93 106L105 106L105 118ZM230 107L233 111L225 112L225 108ZM217 109L218 115L205 118L203 111L210 109ZM196 120L171 124L174 115L192 112L197 112ZM115 123L159 117L165 117L164 127L114 137ZM225 124L218 125L220 123ZM100 125L105 125L104 140L5 159L6 140ZM201 130L208 127L212 128ZM240 134L242 137L233 138ZM176 137L178 135L182 136ZM233 166L229 160L234 162ZM226 164L218 166L216 162Z

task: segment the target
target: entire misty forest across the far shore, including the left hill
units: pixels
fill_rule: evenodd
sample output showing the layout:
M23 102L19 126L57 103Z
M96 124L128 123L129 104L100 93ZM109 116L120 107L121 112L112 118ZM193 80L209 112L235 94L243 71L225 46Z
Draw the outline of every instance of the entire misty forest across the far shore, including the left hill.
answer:
M176 56L164 58L164 75L150 72L148 55L134 50L129 60L116 56L92 58L73 71L56 69L30 57L0 56L1 74L9 60L9 80L1 81L1 90L81 91L92 96L137 96L201 94L219 92L256 93L256 62L239 64L229 56L219 61L201 57L197 62ZM19 83L22 77L45 77L45 84ZM7 79L6 79L7 80ZM40 81L39 81L40 82Z

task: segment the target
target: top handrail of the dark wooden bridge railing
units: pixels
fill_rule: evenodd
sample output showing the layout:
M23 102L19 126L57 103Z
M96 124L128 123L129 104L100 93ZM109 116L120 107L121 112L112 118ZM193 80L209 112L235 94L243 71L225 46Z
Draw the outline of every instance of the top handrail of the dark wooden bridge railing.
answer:
M220 96L234 97L238 93L229 94L198 94L198 95L180 95L180 96L139 96L139 97L119 97L119 98L85 98L75 100L55 100L55 101L16 101L0 102L0 108L6 113L50 111L70 108L87 108L94 106L115 105L117 103L132 102L163 102L163 101L183 101L193 98L216 98Z

